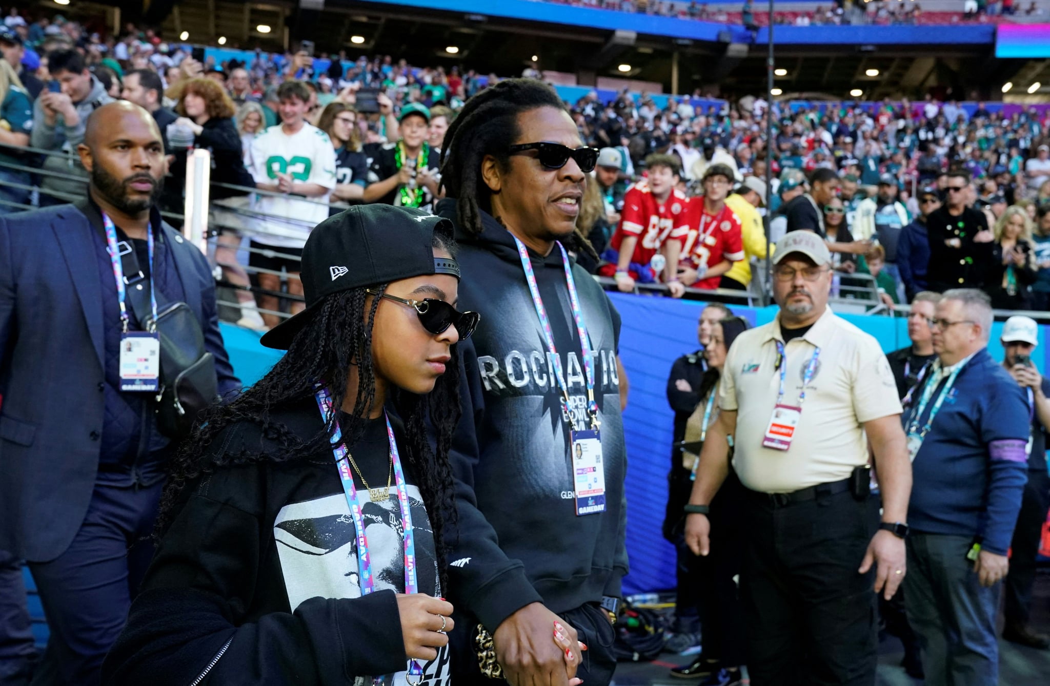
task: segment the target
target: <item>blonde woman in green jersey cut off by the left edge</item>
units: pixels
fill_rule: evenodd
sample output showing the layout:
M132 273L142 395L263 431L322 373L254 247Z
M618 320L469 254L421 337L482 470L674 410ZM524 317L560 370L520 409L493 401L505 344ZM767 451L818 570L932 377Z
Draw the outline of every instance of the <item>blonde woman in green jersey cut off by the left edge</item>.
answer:
M29 166L23 153L15 148L29 145L32 129L33 101L29 93L10 63L0 60L0 214L27 209L21 206L29 202L29 172L12 169L8 165Z

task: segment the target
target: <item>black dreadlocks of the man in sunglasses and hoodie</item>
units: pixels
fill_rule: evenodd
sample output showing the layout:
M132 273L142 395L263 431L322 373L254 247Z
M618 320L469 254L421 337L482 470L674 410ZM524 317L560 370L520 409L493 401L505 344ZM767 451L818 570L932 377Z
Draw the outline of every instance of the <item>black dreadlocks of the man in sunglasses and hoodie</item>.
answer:
M518 116L541 107L564 110L565 104L558 92L542 81L507 79L468 100L445 132L441 186L449 197L457 198L458 223L468 234L480 234L481 212L491 214L492 211L492 193L481 177L482 160L491 155L505 172L510 164L507 147L521 134ZM585 252L598 259L593 245L579 228L564 242L569 250Z

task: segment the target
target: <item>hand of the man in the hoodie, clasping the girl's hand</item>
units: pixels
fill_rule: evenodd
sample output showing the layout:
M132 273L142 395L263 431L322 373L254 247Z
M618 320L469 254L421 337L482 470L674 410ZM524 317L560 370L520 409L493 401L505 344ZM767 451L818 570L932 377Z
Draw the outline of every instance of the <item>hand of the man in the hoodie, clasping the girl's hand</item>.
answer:
M551 641L554 622L564 627L569 644L575 643L576 630L543 603L525 605L492 634L496 657L510 686L567 686L565 652Z

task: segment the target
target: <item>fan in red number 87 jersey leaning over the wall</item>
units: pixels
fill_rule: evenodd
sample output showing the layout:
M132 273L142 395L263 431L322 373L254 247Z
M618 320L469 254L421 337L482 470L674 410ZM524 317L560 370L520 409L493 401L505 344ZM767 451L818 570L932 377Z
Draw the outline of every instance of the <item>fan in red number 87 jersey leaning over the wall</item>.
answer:
M600 269L598 274L613 276L616 287L624 293L634 291L635 282L663 280L671 296L680 298L686 288L675 275L681 239L689 232L689 198L675 188L678 158L649 155L646 170L647 179L639 180L624 196L620 227L612 235L610 250L602 256L610 264Z

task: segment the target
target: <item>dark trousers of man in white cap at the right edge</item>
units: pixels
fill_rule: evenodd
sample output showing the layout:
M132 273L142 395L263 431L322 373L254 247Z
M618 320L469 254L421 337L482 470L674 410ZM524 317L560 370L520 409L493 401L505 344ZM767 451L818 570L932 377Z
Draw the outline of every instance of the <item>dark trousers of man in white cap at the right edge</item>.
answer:
M1050 509L1050 475L1045 470L1030 470L1021 513L1010 542L1010 573L1006 576L1004 614L1007 624L1028 624L1035 582L1035 556L1040 551L1043 524Z

